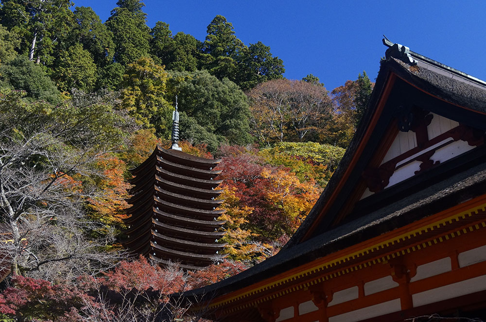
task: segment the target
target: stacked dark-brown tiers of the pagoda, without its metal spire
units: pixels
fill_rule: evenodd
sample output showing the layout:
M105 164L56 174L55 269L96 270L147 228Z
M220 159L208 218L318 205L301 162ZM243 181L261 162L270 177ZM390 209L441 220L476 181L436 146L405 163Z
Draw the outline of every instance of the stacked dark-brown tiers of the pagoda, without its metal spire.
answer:
M182 268L198 270L225 256L226 221L217 218L224 200L214 170L221 160L191 156L157 145L152 155L131 170L132 197L127 202L131 216L123 245L133 254L149 256L160 265L177 262Z

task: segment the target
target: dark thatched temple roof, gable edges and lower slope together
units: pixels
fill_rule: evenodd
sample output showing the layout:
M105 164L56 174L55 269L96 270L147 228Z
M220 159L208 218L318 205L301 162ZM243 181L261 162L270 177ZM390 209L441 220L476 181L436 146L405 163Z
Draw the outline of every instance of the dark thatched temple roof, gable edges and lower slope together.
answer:
M284 249L274 257L268 258L238 275L201 289L187 291L182 296L192 297L211 294L214 297L239 290L298 267L302 263L344 249L354 244L356 240L371 239L427 215L448 209L456 205L458 200L467 200L486 193L486 148L480 147L476 153L481 157L477 158L474 164L466 165L458 169L453 175L448 174L442 181L430 186L420 186L419 188L423 187L422 190L415 191L401 200L302 242L303 236L317 219L320 210L329 200L331 193L336 189L349 167L358 146L363 140L391 73L412 84L412 86L451 104L466 106L470 110L486 113L485 82L417 53L410 52L410 54L416 64L406 64L394 57L388 57L381 61L368 109L364 113L343 159L306 220ZM481 125L480 123L478 124ZM480 128L486 129L486 122ZM178 296L177 294L174 295Z

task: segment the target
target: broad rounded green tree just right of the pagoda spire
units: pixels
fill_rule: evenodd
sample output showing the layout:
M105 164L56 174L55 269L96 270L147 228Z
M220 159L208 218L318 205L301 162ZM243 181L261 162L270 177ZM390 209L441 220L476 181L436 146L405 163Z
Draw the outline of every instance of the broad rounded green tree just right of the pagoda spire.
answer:
M169 97L178 95L180 111L193 117L209 133L233 144L252 142L248 103L238 85L226 78L219 81L206 70L173 71L169 84Z

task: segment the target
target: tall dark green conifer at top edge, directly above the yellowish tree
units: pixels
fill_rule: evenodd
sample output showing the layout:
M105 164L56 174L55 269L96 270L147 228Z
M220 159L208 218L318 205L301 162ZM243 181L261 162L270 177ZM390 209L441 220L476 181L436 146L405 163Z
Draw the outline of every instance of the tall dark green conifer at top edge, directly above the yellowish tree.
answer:
M139 1L119 1L135 3ZM150 29L145 25L143 12L130 11L133 7L121 6L112 10L106 26L113 32L114 59L122 65L131 64L150 51ZM142 18L143 16L143 18Z

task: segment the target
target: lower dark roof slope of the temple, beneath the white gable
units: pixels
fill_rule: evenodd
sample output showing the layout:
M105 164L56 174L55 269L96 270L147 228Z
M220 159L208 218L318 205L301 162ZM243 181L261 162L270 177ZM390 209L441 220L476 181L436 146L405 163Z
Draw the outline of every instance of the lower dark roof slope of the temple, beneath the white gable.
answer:
M260 264L207 287L183 293L185 297L211 294L219 296L239 290L266 278L298 267L302 263L324 257L357 240L367 240L406 225L425 214L437 213L456 204L486 193L486 163L469 167L446 180L418 191L388 207L378 209L346 225L338 226L308 241L280 251Z

